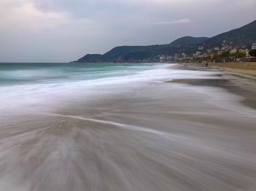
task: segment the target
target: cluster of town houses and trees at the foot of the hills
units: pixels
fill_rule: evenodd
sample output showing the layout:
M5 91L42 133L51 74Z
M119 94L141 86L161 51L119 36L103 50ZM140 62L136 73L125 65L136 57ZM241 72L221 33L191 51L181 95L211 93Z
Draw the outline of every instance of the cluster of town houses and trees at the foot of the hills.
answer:
M256 42L252 43L250 50L256 50ZM199 46L197 51L192 55L187 55L184 52L171 55L159 55L160 62L225 62L225 61L237 61L237 62L250 62L256 61L255 57L249 55L249 49L246 47L233 47L233 43L227 44L223 41L222 47L213 47L206 49L204 46Z

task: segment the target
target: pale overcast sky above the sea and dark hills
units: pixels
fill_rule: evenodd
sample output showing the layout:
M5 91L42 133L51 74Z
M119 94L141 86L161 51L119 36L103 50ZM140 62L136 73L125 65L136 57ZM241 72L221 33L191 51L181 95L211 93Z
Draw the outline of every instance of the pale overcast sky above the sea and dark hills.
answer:
M0 0L0 62L69 62L210 37L252 22L255 9L256 0Z

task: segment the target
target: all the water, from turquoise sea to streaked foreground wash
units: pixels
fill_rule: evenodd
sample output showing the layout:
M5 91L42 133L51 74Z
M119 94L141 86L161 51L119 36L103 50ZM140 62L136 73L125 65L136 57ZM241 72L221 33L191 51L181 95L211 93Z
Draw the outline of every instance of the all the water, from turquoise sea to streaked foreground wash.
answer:
M2 190L256 189L255 110L221 88L165 82L218 72L15 67L21 77L0 66Z

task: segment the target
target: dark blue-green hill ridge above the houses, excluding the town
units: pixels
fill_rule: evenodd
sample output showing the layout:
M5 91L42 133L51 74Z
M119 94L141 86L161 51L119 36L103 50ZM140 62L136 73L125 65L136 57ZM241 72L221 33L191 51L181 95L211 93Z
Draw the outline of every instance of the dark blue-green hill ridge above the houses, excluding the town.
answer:
M184 36L170 44L114 47L103 55L88 54L75 62L150 62L157 61L160 55L174 57L181 52L192 55L199 47L203 47L204 51L213 50L215 47L222 47L223 43L234 48L250 48L252 42L256 42L256 20L211 38Z

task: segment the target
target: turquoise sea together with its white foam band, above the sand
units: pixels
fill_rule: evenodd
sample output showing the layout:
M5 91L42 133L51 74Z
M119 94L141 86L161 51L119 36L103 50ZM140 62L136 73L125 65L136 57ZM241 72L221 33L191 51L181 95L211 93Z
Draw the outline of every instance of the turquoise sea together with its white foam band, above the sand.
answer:
M132 91L132 85L145 82L207 76L167 63L0 63L0 110L39 112L80 98Z

